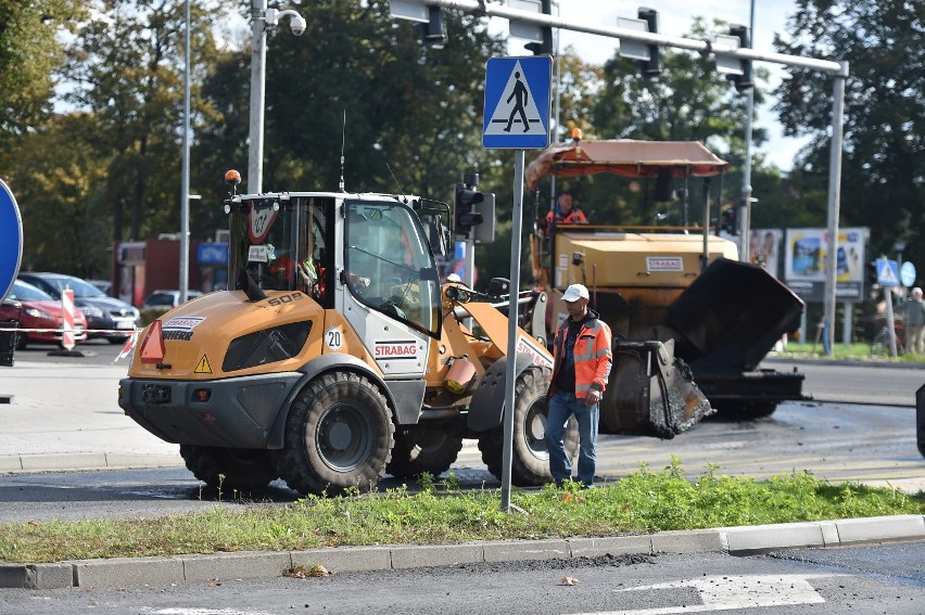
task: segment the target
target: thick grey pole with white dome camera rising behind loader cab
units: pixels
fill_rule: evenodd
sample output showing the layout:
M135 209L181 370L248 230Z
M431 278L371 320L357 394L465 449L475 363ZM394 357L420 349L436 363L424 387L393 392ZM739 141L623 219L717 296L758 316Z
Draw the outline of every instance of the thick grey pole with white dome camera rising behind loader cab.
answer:
M289 28L302 36L307 27L305 18L292 10L267 9L267 0L251 0L251 125L248 152L248 192L263 191L264 172L264 89L267 63L267 26L276 26L282 17L289 17Z

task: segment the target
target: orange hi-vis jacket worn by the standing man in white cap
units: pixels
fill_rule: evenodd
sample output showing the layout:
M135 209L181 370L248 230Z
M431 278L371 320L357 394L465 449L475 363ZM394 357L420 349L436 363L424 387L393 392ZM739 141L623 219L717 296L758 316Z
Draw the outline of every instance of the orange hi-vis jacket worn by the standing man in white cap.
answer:
M596 311L588 309L591 318L584 324L575 337L573 350L575 360L575 397L584 399L592 388L601 393L607 388L607 380L610 377L610 368L613 364L613 349L611 348L610 328L598 318ZM556 376L562 367L562 356L566 353L566 338L568 337L569 320L562 319L556 331L556 341L553 343L553 380L549 383L549 397L556 393Z

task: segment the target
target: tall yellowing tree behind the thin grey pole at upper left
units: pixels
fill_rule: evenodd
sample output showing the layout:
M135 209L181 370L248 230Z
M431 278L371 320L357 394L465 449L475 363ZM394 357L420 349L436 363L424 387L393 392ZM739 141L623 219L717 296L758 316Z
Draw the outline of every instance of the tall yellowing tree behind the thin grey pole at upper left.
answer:
M191 7L194 84L203 57L214 55L212 22L220 14L215 2ZM185 27L177 0L99 0L68 50L66 100L97 123L88 143L109 161L115 241L179 227Z

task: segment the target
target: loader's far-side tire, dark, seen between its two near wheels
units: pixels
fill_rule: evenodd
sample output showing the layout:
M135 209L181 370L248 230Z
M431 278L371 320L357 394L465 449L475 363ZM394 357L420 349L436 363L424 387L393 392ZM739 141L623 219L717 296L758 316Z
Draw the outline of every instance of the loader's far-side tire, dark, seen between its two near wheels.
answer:
M410 430L395 434L392 461L385 472L395 478L410 478L425 472L440 476L456 462L463 438L431 430Z

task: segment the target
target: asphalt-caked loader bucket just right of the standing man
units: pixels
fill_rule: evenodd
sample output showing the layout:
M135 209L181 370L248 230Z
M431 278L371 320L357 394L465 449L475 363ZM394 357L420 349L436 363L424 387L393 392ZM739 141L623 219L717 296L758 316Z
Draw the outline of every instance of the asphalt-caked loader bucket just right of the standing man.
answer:
M610 385L600 403L600 433L670 439L713 413L674 343L614 344Z

